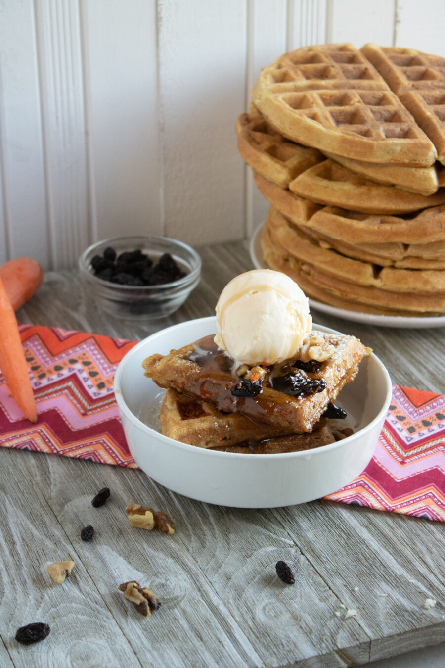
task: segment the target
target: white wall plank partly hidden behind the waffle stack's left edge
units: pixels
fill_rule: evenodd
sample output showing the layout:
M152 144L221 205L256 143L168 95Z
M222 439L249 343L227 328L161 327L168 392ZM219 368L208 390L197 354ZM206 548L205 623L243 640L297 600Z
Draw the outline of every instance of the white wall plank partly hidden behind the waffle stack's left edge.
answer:
M248 0L246 111L261 68L286 51L286 17L286 0ZM246 172L246 232L247 236L252 236L256 227L264 222L269 203L256 187L252 170L247 165Z

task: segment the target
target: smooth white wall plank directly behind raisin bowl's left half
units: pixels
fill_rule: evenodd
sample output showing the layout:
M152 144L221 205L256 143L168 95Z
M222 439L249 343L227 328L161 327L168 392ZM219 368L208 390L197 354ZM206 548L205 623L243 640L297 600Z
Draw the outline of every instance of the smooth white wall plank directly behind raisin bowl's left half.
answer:
M93 240L163 234L155 0L81 0Z

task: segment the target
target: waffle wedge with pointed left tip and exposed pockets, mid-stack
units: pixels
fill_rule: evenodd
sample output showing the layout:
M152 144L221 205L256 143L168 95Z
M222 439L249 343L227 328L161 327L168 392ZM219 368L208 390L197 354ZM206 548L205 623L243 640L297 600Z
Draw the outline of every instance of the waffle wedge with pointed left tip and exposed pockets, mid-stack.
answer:
M445 204L445 189L428 197L376 184L334 162L324 160L289 184L294 194L328 206L374 214L404 214Z

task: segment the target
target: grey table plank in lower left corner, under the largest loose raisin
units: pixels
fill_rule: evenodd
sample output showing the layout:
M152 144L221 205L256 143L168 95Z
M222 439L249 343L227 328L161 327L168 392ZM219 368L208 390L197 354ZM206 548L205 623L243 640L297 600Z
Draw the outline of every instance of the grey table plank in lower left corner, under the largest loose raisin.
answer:
M34 484L33 470L39 466L37 458L33 454L8 452L5 448L0 451L3 643L17 667L139 665L119 625L97 593L73 542ZM31 470L27 460L35 460ZM77 534L80 528L77 526ZM46 567L67 558L75 561L72 576L63 585L56 585ZM32 647L17 643L17 629L35 621L50 625L49 637Z

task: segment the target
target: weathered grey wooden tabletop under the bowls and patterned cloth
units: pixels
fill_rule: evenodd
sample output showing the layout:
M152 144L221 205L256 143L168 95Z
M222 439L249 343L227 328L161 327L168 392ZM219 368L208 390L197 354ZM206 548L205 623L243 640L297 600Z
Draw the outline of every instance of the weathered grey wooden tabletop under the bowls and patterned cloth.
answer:
M21 322L128 339L212 315L217 297L252 269L246 242L201 249L201 284L173 316L152 324L111 321L77 271L47 273ZM444 391L444 330L387 329L314 312L314 321L372 346L396 383ZM0 665L66 667L344 667L445 640L444 526L317 501L274 510L211 506L174 494L138 470L0 449ZM91 498L107 486L99 513ZM127 530L123 508L164 510L174 536ZM106 508L106 510L105 510ZM93 524L95 540L79 529ZM72 558L64 585L49 562ZM284 585L274 564L296 574ZM162 607L138 615L116 589L136 579ZM422 606L436 599L436 607ZM356 609L356 617L344 619ZM29 621L51 635L14 640Z

